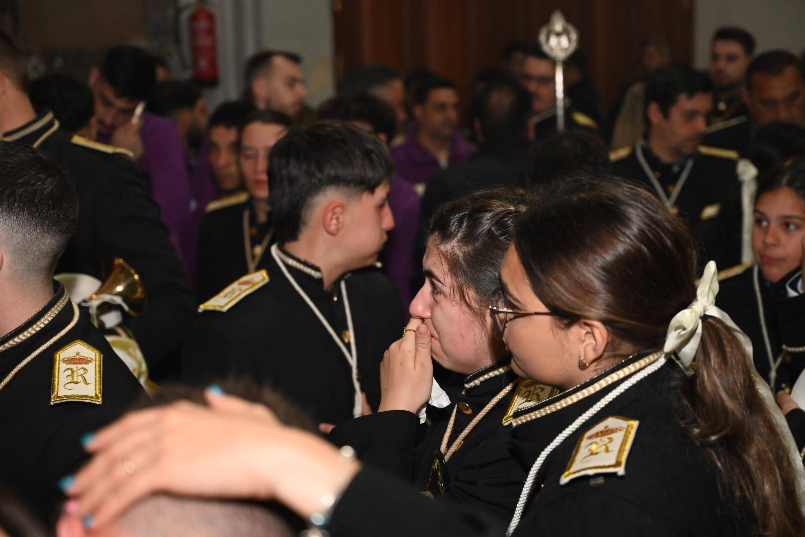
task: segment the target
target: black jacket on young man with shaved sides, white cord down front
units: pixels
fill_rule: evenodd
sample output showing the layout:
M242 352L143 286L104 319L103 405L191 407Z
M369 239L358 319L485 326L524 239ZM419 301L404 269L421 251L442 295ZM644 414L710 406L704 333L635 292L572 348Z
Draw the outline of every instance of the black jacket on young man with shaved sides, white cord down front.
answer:
M286 266L299 287L338 337L347 340L341 280L326 290L316 266L284 250L283 255L294 260L296 266ZM341 423L352 418L354 388L346 357L270 252L267 263L269 281L262 287L229 311L201 313L184 347L185 381L206 384L220 378L246 378L274 387L318 422ZM402 336L402 306L394 285L374 267L342 279L352 312L361 390L377 408L379 366L389 345ZM348 341L345 346L349 349Z

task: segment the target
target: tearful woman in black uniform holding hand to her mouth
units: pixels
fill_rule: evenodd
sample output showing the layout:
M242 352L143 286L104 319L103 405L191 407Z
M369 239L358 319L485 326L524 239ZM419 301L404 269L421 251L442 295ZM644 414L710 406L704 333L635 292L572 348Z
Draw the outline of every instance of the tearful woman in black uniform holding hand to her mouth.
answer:
M436 419L428 407L427 425L416 431L431 377L413 370L413 360L394 360L390 350L382 365L388 373L381 376L379 411L330 433L336 444L355 448L363 463L412 481L431 498L471 503L502 521L514 510L525 479L520 463L508 455L511 414L559 391L512 372L489 318L488 297L529 200L520 189L475 192L444 204L431 224L427 282L411 302L411 322L425 324L433 335L434 361L462 376L451 412Z

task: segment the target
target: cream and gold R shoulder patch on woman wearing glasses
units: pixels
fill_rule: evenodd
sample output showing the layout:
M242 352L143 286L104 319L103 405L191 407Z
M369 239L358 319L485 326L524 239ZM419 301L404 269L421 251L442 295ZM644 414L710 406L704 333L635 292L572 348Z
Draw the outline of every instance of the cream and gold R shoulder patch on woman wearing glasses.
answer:
M632 448L638 420L611 415L602 419L584 432L576 444L576 450L564 471L559 485L574 477L592 476L597 473L626 473L626 457Z

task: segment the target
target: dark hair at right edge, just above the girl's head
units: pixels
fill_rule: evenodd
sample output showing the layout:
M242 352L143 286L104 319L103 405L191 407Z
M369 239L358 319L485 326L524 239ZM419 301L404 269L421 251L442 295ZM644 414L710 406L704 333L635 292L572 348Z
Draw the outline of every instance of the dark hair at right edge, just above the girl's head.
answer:
M763 174L795 157L805 157L805 128L788 122L758 126L749 143L749 160Z

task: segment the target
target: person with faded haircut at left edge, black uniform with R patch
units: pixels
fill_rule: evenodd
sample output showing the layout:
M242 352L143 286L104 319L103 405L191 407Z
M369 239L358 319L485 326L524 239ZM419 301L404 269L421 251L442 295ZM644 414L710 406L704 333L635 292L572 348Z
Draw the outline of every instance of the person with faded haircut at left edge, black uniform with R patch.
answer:
M81 436L144 394L52 279L78 220L64 170L31 147L0 142L0 489L47 523L64 498L56 481L87 456Z

